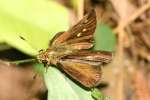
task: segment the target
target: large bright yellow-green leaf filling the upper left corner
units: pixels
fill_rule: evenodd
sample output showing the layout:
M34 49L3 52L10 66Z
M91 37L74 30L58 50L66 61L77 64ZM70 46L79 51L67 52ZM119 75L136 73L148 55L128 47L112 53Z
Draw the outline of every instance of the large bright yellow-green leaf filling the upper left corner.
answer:
M0 22L0 43L35 56L67 29L69 18L67 9L49 0L0 0Z

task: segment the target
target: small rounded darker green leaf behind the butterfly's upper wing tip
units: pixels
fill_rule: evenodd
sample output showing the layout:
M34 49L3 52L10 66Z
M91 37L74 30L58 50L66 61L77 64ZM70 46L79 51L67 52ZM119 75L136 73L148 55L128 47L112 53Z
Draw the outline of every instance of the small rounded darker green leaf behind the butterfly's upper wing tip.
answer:
M114 51L116 45L115 34L105 24L98 24L95 32L95 50Z

